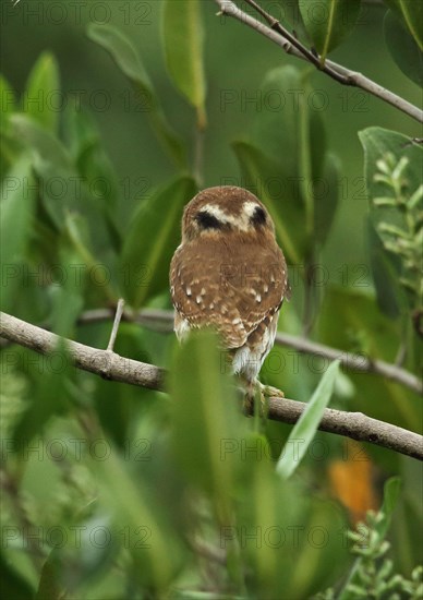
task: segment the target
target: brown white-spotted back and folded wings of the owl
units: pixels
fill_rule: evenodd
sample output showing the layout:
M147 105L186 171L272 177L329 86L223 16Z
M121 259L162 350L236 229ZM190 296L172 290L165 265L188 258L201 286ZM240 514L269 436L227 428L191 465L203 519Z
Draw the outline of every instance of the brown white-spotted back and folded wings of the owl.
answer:
M221 244L195 252L181 245L170 266L170 288L179 323L214 326L227 348L243 346L275 314L287 289L287 266L278 247L245 244L228 253Z

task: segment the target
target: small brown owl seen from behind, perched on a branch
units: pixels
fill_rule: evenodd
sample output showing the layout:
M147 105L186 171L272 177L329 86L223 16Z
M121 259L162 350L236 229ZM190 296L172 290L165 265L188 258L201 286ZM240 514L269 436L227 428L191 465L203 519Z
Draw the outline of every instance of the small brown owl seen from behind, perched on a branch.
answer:
M208 188L186 205L170 291L178 339L190 329L216 328L250 395L289 293L274 223L254 194L232 185Z

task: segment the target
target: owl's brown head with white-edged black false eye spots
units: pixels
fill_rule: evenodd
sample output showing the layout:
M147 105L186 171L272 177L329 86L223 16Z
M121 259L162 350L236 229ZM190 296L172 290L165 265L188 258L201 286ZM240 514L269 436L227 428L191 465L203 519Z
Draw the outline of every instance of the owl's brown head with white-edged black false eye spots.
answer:
M251 192L234 185L202 190L185 206L182 241L220 233L275 235L264 204Z

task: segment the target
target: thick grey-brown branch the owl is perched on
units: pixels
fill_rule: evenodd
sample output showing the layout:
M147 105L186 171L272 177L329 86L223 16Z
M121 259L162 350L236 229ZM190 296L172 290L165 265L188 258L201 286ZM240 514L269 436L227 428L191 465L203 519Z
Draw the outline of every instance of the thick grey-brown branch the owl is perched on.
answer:
M61 338L5 313L0 313L0 335L39 352L48 355L64 344L75 365L106 379L149 389L164 391L165 371L153 364L120 357L110 350L98 350L77 341ZM304 403L270 398L268 418L294 423L302 415ZM253 407L252 407L253 410ZM423 460L423 437L399 427L371 419L361 412L345 412L327 408L319 424L322 431L370 442Z

